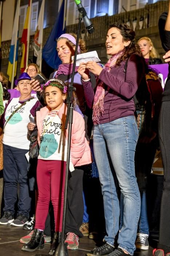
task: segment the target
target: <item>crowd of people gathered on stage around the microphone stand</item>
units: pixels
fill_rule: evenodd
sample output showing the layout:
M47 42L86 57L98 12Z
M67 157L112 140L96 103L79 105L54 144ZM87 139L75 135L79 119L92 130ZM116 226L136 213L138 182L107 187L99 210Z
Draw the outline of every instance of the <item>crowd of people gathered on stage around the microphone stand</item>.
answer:
M166 62L169 24L170 13L162 14L159 29ZM62 64L43 84L33 79L40 69L30 63L15 80L18 98L10 98L7 78L0 72L0 225L31 231L20 240L23 251L43 249L52 234L48 254L54 255L61 242L68 144L64 127L75 45L75 34L57 39ZM86 51L79 39L78 54ZM109 26L106 52L110 59L104 66L88 61L75 68L65 242L68 249L77 249L79 237L97 234L89 234L95 230L88 230L90 199L84 197L88 182L83 182L84 173L95 166L105 228L103 245L87 256L126 256L136 248L149 249L147 181L160 143L165 184L159 244L153 255L169 256L170 75L163 91L157 71L149 66L162 63L153 42L142 37L136 43L135 32L126 24Z

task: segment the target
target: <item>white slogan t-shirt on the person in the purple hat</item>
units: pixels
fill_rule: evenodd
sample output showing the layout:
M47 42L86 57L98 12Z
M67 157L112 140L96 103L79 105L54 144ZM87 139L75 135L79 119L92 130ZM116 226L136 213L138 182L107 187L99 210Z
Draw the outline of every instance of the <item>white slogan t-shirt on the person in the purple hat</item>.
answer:
M29 149L30 141L27 138L28 123L30 122L29 115L36 102L37 99L35 98L27 101L24 106L17 110L8 123L4 124L3 144L21 149ZM5 111L5 123L12 112L20 105L19 98L11 100Z

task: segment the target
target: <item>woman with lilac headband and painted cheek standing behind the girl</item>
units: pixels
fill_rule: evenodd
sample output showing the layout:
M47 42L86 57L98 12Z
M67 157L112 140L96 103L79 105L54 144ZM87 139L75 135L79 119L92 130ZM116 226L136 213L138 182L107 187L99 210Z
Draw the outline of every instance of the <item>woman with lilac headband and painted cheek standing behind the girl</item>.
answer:
M56 50L58 56L62 61L57 71L50 75L50 79L57 78L67 82L71 82L73 62L71 57L75 55L75 34L62 34L57 39ZM82 39L79 39L78 54L86 52L86 45ZM85 121L86 139L89 140L91 136L91 110L86 105L84 97L84 89L81 82L81 76L77 72L78 67L75 68L74 84L76 88L76 95L78 98L79 106L75 107L75 110L82 114ZM95 76L92 74L93 81L91 79L92 86L95 87ZM42 89L38 81L32 82L32 89L37 91L37 97L42 105L44 105L42 97ZM66 242L68 243L68 249L77 249L79 245L79 237L82 237L82 233L79 230L83 221L84 203L83 203L83 170L85 166L79 166L75 168L75 171L71 173L71 177L68 183L68 204L66 215Z

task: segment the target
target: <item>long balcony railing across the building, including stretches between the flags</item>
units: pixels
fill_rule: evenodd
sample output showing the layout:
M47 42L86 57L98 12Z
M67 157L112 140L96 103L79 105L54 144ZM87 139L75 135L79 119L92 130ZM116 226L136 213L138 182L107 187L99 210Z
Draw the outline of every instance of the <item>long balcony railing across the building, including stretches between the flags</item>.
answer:
M87 42L87 46L96 42L96 45L100 42L98 38L102 39L103 42L106 38L108 26L114 22L122 22L131 26L134 30L147 29L150 27L158 26L158 19L162 12L167 11L169 7L169 1L159 1L155 4L146 4L144 8L133 10L129 12L122 12L120 14L112 16L100 16L91 19L95 32L88 34L84 24L82 23L81 34L82 38ZM51 32L51 27L44 29L43 34L43 45L46 43L47 38ZM66 27L67 33L77 33L78 24L69 25ZM94 41L95 40L95 41ZM1 43L1 56L3 60L7 60L9 56L9 49L11 40L3 41ZM33 51L33 36L30 37L29 50ZM19 38L19 50L18 55L21 56L21 42Z

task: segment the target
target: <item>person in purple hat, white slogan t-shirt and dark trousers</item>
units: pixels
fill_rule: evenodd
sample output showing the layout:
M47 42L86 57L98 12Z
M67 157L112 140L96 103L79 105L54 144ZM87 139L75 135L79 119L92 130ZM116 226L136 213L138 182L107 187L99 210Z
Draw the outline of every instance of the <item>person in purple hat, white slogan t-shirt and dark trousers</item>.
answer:
M27 73L22 73L15 81L20 97L8 101L0 120L0 134L4 133L4 215L0 219L1 225L11 223L12 226L22 227L28 222L31 198L28 193L28 162L25 157L30 143L27 125L29 115L33 117L35 109L40 105L37 99L31 97L30 80ZM18 184L19 202L17 217L14 219Z

